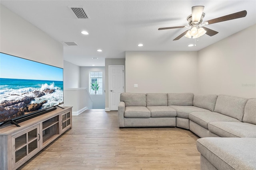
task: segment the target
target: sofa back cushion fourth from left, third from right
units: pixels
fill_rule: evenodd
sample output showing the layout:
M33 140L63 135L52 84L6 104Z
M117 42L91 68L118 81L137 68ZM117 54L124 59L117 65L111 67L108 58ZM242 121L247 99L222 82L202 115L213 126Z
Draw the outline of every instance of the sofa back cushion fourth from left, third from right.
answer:
M217 98L218 96L216 94L195 94L193 105L214 111Z

